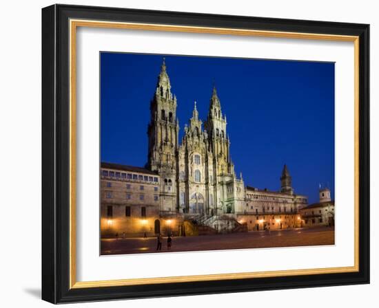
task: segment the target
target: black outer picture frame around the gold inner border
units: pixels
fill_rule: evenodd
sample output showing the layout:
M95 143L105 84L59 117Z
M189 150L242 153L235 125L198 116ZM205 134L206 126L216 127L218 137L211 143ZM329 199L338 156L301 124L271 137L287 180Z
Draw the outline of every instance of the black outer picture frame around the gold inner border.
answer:
M359 36L359 271L70 289L69 20ZM50 303L369 283L369 25L51 5L42 10L42 298Z

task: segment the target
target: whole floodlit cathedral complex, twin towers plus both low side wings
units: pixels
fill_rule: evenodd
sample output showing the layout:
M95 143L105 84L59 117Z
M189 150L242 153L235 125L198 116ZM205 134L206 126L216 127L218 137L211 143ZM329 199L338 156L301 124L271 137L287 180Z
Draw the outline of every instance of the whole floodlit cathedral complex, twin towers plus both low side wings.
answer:
M245 186L236 176L227 118L216 87L207 118L192 117L179 140L178 100L165 60L150 101L144 167L101 163L101 236L201 235L302 225L307 197L296 195L285 165L280 190Z

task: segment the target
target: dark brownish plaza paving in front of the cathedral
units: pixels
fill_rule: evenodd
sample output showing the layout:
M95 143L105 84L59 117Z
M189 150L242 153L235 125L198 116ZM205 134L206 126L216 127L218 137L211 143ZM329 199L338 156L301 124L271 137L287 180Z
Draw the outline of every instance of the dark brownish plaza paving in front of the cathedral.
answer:
M156 237L129 239L101 239L101 254L156 253ZM172 238L172 248L167 250L167 237L163 237L159 252L187 252L246 248L274 248L308 245L334 245L334 228L296 228L216 234L180 236Z

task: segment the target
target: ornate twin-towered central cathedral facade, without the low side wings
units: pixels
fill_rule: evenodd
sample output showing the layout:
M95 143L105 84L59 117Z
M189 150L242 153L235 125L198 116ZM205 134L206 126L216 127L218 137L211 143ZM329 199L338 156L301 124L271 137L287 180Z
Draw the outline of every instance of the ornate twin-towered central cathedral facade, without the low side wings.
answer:
M150 103L146 166L162 179L160 210L207 216L235 212L245 198L244 184L234 172L226 115L221 110L216 87L204 123L194 102L182 140L178 140L176 107L163 60Z

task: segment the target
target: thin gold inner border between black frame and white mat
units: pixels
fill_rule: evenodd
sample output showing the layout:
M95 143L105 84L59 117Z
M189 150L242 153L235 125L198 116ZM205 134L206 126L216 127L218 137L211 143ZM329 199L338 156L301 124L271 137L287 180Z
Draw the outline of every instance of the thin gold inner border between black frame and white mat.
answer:
M323 41L354 42L354 266L327 267L304 270L279 270L269 272L245 272L194 276L170 276L158 278L130 278L107 281L76 281L76 28L117 28L165 32L189 32L203 34L227 34L238 36L264 36L285 39L314 39ZM310 274L332 274L359 271L359 37L334 34L242 30L232 28L192 27L182 25L158 25L148 23L121 23L70 19L70 289L88 287L114 287L147 285L154 283L183 283L218 281L241 278L263 278Z

